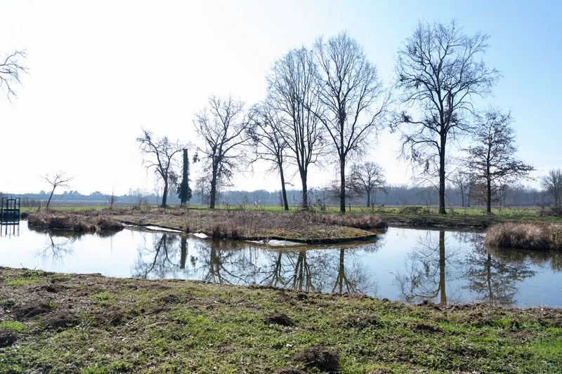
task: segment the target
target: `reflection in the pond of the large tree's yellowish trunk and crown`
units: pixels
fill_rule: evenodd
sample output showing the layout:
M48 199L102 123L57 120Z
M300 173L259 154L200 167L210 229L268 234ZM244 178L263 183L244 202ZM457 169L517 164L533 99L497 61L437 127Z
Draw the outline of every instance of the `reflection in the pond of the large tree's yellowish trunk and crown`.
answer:
M445 253L445 231L439 232L437 242L430 231L425 238L420 237L417 246L406 261L407 274L398 273L396 276L400 293L405 301L437 299L440 305L451 302L451 295L447 295L445 265L451 265L455 257L455 251ZM457 295L452 299L457 300Z

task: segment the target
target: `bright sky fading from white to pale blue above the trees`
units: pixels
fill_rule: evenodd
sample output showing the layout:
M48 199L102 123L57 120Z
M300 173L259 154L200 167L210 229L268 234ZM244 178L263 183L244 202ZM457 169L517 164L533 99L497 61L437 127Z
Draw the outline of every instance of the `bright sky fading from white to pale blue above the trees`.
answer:
M266 94L265 76L291 48L346 31L377 65L386 86L398 48L419 20L456 18L466 34L490 35L484 56L502 79L486 105L511 110L518 156L535 176L562 167L558 148L562 74L559 1L4 1L0 56L25 50L17 98L0 93L0 191L48 189L41 175L65 171L70 189L124 194L154 190L136 138L200 144L193 119L209 95L247 107ZM382 131L365 161L391 184L412 183L397 160L399 135ZM180 161L178 159L178 161ZM233 189L279 189L260 164ZM192 168L192 180L200 174ZM299 188L298 175L289 175ZM335 179L313 167L309 187Z

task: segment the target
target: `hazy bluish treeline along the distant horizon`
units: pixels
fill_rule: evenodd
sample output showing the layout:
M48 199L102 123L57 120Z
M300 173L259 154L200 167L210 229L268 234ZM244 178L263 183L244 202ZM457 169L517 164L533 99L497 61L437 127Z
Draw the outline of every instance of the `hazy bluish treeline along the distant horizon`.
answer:
M1 193L0 193L1 195ZM4 194L6 195L6 194ZM464 196L463 196L464 195ZM39 206L41 202L48 199L48 192L41 191L37 194L7 194L7 196L20 197L22 206ZM299 206L301 204L301 191L296 189L287 190L287 200L290 206ZM53 195L51 203L55 205L105 205L108 204L111 195L102 194L101 192L93 192L88 195L80 194L77 191L65 192L63 194ZM129 191L129 194L115 196L117 205L145 205L157 204L162 196L158 194L148 194L141 191ZM329 188L313 188L308 191L308 199L311 204L316 206L337 206L339 204L339 196L333 189ZM373 206L437 206L438 190L435 187L409 187L403 185L388 186L386 190L376 192L372 199ZM540 189L516 186L508 187L498 194L495 199L494 206L545 206L554 203L551 196L545 194ZM483 202L478 201L476 197L468 194L461 194L459 189L447 188L445 193L445 201L447 206L482 206ZM171 204L179 204L178 196L170 194L168 202ZM348 199L351 206L365 206L367 202L366 196L353 195ZM201 190L193 191L192 205L208 205L209 194ZM218 203L230 206L263 206L263 205L279 205L281 206L281 194L279 191L269 192L263 189L256 191L225 191L218 194Z

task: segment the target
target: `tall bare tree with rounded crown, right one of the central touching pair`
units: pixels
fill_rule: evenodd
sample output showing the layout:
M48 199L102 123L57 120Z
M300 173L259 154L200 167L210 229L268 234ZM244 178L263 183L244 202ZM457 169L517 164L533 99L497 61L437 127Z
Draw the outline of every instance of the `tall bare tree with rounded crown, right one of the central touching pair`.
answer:
M377 69L355 39L345 32L314 44L319 97L325 111L315 112L337 152L340 171L339 209L346 211L346 161L362 154L386 111Z

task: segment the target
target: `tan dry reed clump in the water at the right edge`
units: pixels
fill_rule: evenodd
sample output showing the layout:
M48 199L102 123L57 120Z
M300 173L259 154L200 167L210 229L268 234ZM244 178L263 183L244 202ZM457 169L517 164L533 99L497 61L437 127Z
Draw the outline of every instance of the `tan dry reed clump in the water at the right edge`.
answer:
M562 250L562 225L556 223L501 223L486 231L488 246Z

